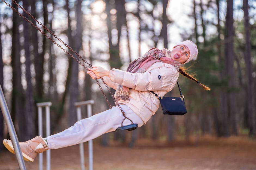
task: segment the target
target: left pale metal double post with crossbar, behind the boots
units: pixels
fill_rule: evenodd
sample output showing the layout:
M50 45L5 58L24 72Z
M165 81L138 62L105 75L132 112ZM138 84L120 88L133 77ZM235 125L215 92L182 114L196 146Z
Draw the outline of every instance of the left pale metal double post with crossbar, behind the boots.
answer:
M43 136L42 107L45 107L46 136L50 136L50 106L51 102L36 103L38 107L38 134ZM43 153L39 153L39 170L43 169ZM51 169L51 150L46 151L46 169Z

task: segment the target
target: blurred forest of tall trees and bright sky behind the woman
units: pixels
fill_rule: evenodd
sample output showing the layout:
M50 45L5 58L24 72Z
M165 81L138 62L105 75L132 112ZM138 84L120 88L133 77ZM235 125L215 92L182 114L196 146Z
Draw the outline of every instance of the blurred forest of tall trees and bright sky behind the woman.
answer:
M7 2L22 13L11 1ZM145 126L135 131L102 135L98 141L103 146L108 146L110 140L118 140L128 141L133 147L139 138L173 141L181 136L190 141L191 137L205 134L255 137L254 0L16 2L95 66L126 70L129 62L151 47L171 50L175 43L187 39L197 44L197 59L185 66L192 65L191 73L212 90L204 91L180 75L179 84L188 110L185 116L164 116L159 109ZM19 141L37 134L37 102L53 103L51 133L75 123L74 102L95 100L93 114L108 109L96 81L86 75L78 62L4 2L0 3L0 9L0 84ZM108 94L104 85L103 89ZM179 96L178 87L168 95ZM108 100L114 105L109 94ZM83 113L86 117L85 108ZM0 114L0 141L7 135Z

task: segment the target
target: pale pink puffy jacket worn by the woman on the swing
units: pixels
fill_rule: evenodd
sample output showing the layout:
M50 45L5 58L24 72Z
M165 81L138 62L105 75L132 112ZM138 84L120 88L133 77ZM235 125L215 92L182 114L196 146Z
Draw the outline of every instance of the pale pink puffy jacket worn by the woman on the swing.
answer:
M131 108L144 121L144 124L159 108L159 100L150 91L164 96L175 86L179 73L172 65L156 62L144 73L129 73L112 69L108 77L103 77L106 84L115 90L118 84L130 88L130 101L118 101Z

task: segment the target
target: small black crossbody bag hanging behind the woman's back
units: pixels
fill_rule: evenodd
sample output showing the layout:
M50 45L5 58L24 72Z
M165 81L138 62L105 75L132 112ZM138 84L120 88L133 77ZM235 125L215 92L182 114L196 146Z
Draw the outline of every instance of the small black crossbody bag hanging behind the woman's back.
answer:
M177 85L179 87L178 81L177 81ZM184 101L184 95L182 95L180 87L179 87L179 93L181 97L162 97L160 95L157 95L153 91L150 91L150 92L153 93L160 101L163 114L184 115L185 113L187 113L187 109Z

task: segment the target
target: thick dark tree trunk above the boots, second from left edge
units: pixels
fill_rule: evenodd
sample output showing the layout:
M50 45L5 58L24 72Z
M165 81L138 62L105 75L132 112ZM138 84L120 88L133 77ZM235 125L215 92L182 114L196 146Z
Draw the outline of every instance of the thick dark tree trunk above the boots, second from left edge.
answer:
M17 9L17 6L13 4L13 7ZM19 140L24 141L26 133L26 122L24 121L24 95L21 84L21 68L20 68L20 34L19 34L19 15L13 11L13 28L12 28L12 47L11 47L11 66L13 69L13 91L12 91L12 105L11 105L11 117L15 124L16 118L18 119L18 127L16 127L17 136Z

